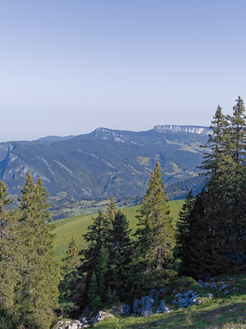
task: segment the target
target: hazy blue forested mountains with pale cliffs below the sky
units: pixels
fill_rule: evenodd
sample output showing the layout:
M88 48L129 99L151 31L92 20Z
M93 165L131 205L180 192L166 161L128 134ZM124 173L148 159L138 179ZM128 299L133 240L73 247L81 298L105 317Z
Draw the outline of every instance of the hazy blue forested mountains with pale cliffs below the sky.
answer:
M159 160L170 198L201 186L198 177L208 127L158 125L149 131L97 128L79 136L0 143L0 176L18 194L29 169L50 195L69 198L143 195Z

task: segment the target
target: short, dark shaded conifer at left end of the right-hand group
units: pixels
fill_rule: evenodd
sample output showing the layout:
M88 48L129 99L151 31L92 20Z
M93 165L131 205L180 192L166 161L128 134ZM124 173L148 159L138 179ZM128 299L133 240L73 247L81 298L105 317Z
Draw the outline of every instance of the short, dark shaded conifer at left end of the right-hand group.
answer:
M182 212L179 213L177 244L179 247L179 274L204 278L212 275L214 257L212 254L211 223L206 217L207 191L205 188L191 199L187 195Z

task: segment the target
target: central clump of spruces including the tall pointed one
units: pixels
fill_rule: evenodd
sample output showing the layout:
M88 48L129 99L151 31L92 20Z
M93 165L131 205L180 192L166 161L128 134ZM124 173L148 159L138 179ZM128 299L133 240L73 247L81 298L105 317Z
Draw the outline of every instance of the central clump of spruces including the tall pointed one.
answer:
M134 239L112 195L107 212L98 212L83 236L86 248L76 252L81 264L75 276L65 275L60 284L67 287L62 303L72 302L71 309L87 306L100 309L118 302L131 302L132 296L139 297L151 288L161 287L174 275L175 231L158 162L148 186L139 205ZM74 259L73 244L71 241L64 264L67 259ZM71 272L70 264L64 272Z

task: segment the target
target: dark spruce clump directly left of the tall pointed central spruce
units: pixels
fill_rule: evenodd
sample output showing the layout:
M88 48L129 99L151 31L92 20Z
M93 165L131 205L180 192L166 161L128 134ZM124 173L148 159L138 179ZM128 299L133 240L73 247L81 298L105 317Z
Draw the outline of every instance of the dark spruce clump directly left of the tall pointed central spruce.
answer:
M83 238L87 247L81 254L77 285L83 290L77 302L81 308L92 309L111 306L124 297L128 264L131 260L132 242L124 214L117 211L111 196L107 212L98 212L93 224Z

